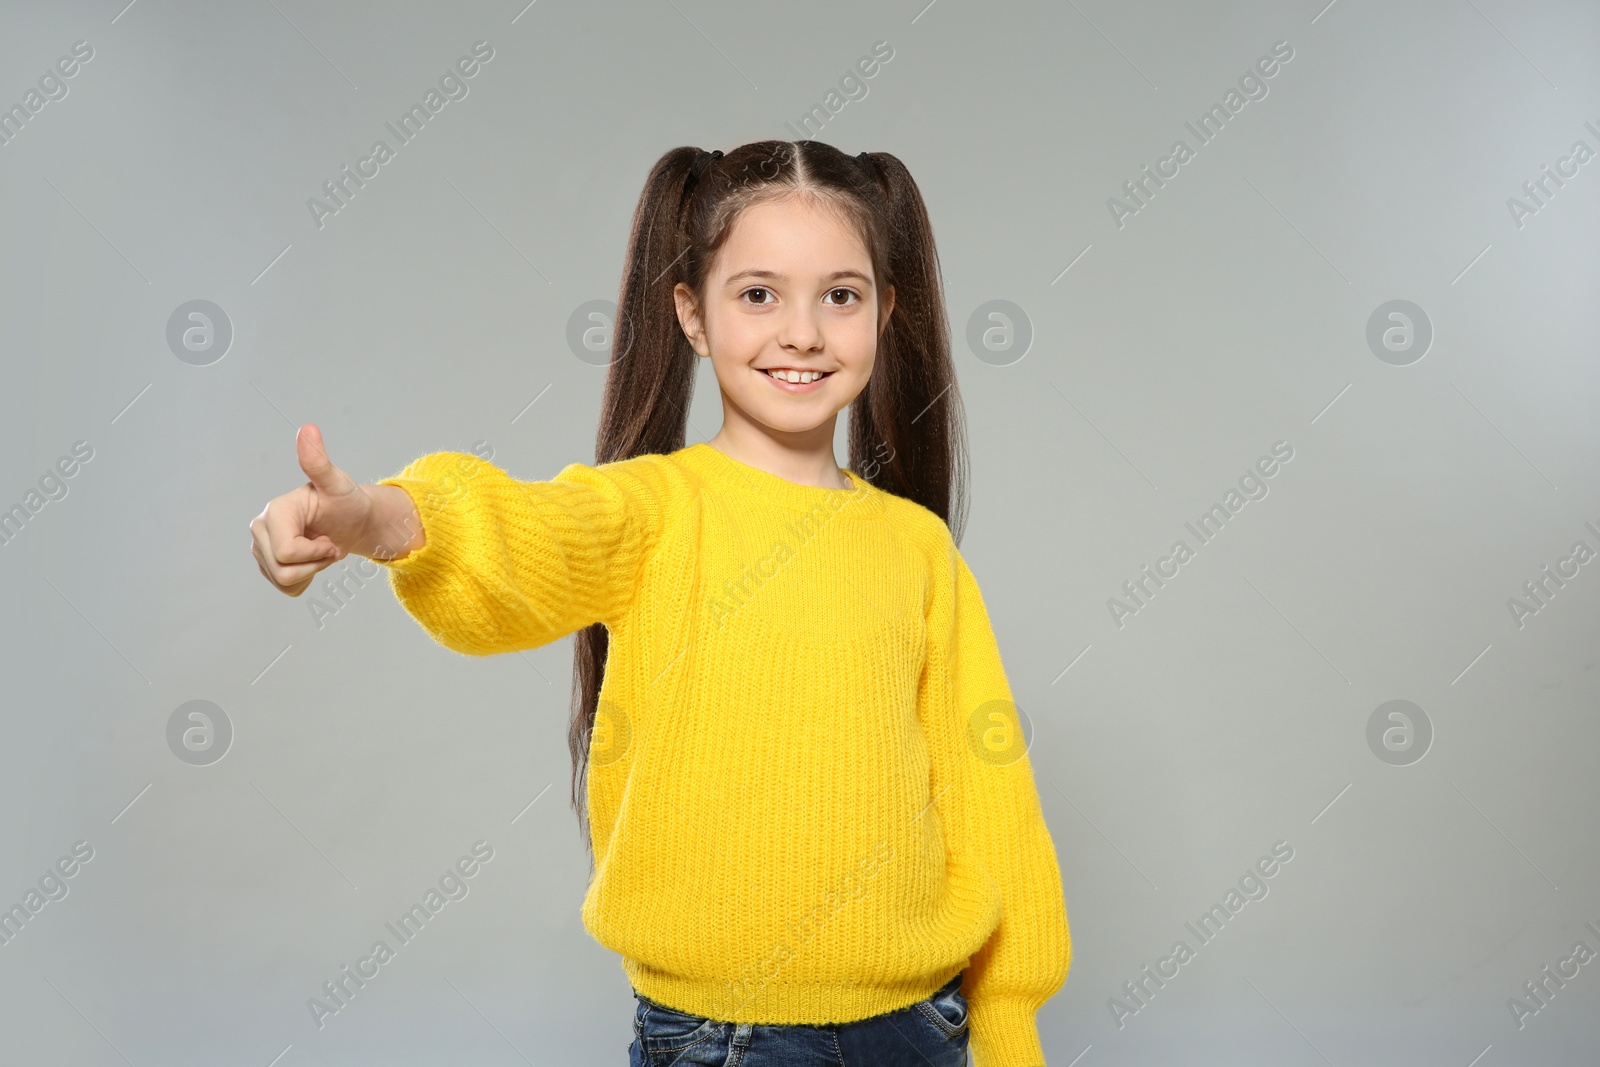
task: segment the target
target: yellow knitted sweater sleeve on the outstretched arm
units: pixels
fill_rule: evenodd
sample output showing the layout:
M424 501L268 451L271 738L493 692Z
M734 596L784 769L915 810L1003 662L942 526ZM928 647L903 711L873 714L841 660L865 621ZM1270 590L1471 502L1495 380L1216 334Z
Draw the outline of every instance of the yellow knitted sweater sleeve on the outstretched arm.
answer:
M662 525L666 485L651 459L574 462L522 482L467 453L421 456L378 485L411 496L424 544L374 561L411 617L458 653L538 648L614 622Z

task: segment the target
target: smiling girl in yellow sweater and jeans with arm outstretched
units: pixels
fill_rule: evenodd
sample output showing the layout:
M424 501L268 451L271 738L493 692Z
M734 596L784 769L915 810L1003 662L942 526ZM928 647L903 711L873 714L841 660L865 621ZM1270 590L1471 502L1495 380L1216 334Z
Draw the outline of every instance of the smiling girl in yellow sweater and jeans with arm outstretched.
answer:
M715 437L685 446L698 360ZM850 406L851 466L834 461ZM886 152L674 149L629 237L595 462L432 453L251 522L299 595L347 553L442 645L576 633L582 918L629 1062L1045 1062L1070 960L1054 845L978 582L933 232Z

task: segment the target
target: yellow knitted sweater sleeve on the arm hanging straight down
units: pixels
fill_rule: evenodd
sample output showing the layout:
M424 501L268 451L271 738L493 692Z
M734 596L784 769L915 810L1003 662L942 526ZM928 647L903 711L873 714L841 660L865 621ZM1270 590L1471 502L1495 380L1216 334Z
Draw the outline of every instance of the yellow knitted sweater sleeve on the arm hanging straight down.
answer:
M954 846L992 880L1000 923L966 965L974 1067L1043 1067L1035 1013L1067 979L1072 939L1056 849L1045 825L1016 704L978 581L954 542L934 582L938 662L933 793ZM939 781L942 779L942 781Z

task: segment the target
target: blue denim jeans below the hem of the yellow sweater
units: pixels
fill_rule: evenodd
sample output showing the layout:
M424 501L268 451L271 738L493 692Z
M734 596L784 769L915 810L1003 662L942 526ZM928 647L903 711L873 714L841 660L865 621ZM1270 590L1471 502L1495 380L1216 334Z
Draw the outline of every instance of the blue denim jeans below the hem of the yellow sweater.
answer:
M962 973L965 974L965 971ZM915 1005L858 1022L715 1022L640 992L629 1067L966 1067L962 974Z

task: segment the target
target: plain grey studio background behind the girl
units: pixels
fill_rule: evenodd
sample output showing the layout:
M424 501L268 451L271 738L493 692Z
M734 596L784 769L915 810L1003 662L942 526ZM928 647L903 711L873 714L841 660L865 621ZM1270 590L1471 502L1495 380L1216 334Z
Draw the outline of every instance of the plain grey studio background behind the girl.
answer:
M814 136L906 160L938 232L963 552L1072 926L1050 1062L1594 1062L1600 961L1523 1027L1507 1000L1600 950L1600 563L1522 627L1507 600L1600 549L1600 160L1520 227L1507 200L1600 149L1597 38L1592 3L1509 0L6 3L0 104L94 56L0 146L0 506L94 454L0 545L0 899L94 857L0 945L0 1061L624 1062L634 1001L578 913L571 638L461 657L382 579L318 625L246 523L307 421L366 482L592 459L605 371L566 322L614 299L650 165L794 136L886 40ZM478 40L470 94L318 229L307 198ZM1118 227L1107 198L1278 40L1269 94ZM234 330L206 366L166 344L192 299ZM1008 365L963 341L994 299L1034 331ZM1366 344L1392 299L1434 330L1406 366ZM720 424L709 371L691 421ZM1280 440L1270 493L1118 627ZM194 699L234 729L210 766L166 741ZM1434 728L1408 766L1366 741L1392 699ZM318 1030L307 998L477 840L470 894ZM1269 896L1118 1027L1280 840Z

